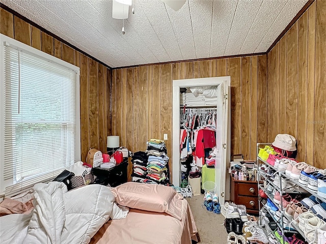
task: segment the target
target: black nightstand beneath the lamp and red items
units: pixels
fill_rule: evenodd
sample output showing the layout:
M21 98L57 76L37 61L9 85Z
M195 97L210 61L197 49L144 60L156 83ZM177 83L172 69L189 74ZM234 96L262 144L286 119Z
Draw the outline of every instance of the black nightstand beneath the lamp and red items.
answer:
M93 168L93 174L97 177L94 184L116 187L127 182L127 167L128 158L111 169L103 169L100 166Z

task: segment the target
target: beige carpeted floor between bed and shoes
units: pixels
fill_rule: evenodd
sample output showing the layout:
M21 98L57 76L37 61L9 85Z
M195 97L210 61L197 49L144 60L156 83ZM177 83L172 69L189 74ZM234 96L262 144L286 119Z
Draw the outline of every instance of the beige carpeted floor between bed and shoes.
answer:
M186 198L194 215L198 234L200 237L200 244L225 244L228 233L224 228L223 215L215 215L209 212L206 208L202 208L204 195Z

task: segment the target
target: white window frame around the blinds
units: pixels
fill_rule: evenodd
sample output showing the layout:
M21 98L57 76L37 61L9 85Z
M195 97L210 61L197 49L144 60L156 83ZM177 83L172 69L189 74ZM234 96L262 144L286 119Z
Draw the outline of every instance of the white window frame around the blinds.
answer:
M14 49L23 51L24 53L28 53L30 55L33 55L37 58L41 58L43 60L46 60L46 62L53 63L59 66L62 66L65 69L69 69L76 73L76 107L75 107L75 119L76 119L76 154L74 161L80 161L81 158L81 147L80 147L80 68L77 66L74 66L70 63L65 62L62 59L59 59L55 56L52 56L50 54L47 54L45 52L42 52L36 48L33 48L29 45L26 45L24 43L21 43L17 40L14 40L10 37L7 37L3 34L0 34L0 157L3 159L5 156L4 152L4 145L5 145L5 139L4 139L4 126L5 126L5 116L4 116L4 96L5 96L5 46L10 46ZM2 172L4 172L4 163L1 161L0 163L0 184L2 185L4 183L4 178ZM33 177L37 180L37 176ZM51 180L51 178L48 178L47 180ZM44 181L44 180L43 180ZM9 185L14 186L14 185ZM2 186L0 188L0 195L5 194L5 189L8 187L7 184L5 186ZM25 186L24 189L30 188L33 186ZM22 189L20 189L22 190Z

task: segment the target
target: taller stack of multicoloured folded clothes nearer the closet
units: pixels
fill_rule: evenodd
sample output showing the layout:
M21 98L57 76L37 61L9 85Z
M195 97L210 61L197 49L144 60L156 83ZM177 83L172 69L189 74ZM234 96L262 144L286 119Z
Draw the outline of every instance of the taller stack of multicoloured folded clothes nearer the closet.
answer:
M167 147L162 140L150 139L147 142L147 182L156 184L169 183L169 157Z

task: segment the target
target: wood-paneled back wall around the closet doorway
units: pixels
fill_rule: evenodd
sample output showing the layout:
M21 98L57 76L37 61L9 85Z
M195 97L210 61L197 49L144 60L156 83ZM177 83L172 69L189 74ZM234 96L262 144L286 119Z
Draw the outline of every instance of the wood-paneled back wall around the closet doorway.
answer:
M171 157L172 80L229 75L231 155L254 160L256 143L267 141L266 55L113 70L112 134L132 151L145 150L148 139L168 134Z

